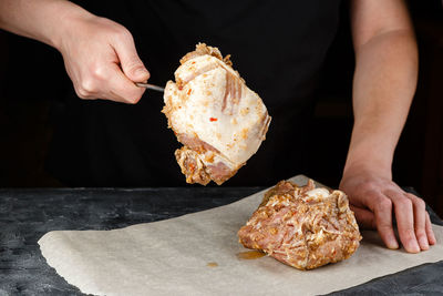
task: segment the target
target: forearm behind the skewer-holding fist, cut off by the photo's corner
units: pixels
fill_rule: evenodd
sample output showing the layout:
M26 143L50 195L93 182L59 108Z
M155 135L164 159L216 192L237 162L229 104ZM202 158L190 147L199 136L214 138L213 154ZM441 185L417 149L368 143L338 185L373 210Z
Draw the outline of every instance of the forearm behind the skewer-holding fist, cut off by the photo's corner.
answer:
M0 0L0 28L58 47L68 19L89 16L65 0ZM91 14L92 16L92 14Z

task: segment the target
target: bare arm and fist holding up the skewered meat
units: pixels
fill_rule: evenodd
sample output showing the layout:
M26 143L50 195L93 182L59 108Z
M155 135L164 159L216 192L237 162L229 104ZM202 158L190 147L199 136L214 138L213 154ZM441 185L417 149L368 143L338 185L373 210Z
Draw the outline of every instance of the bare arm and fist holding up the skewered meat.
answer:
M58 49L78 95L136 103L150 73L131 33L65 0L0 0L0 28Z

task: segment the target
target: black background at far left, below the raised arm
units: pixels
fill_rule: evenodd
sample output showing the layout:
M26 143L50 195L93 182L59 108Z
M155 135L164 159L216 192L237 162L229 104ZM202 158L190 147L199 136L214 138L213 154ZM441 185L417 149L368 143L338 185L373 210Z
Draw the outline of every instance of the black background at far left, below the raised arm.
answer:
M70 88L61 54L0 31L0 186L54 186L44 171L50 103Z

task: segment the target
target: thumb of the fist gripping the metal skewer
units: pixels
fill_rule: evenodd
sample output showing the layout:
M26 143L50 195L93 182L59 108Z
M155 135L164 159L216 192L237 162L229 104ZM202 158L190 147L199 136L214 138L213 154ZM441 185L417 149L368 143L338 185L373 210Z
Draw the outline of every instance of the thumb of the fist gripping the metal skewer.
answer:
M130 32L124 31L113 47L119 57L122 70L130 80L133 82L145 82L150 79L150 72L138 58L134 40Z

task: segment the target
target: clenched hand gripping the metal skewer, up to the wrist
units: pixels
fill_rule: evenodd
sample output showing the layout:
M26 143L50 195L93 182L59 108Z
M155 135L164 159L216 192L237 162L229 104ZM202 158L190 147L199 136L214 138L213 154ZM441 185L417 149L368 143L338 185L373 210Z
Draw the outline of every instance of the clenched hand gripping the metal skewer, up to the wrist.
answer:
M58 44L76 94L82 99L109 99L136 103L144 93L134 82L150 73L140 60L131 33L104 18L66 20L71 27Z

